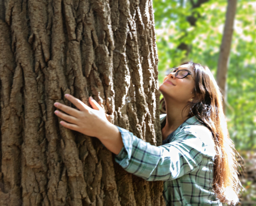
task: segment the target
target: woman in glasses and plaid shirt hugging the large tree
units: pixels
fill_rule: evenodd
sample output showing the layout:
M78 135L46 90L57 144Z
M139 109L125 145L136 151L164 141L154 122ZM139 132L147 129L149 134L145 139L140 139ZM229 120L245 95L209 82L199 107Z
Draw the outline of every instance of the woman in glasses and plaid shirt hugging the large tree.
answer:
M66 95L80 111L54 103L70 116L55 114L69 122L61 121L64 127L99 138L126 171L149 181L164 180L166 205L236 204L241 184L235 149L210 70L193 62L182 64L159 90L166 114L161 115L163 145L158 147L108 122L92 97L93 109Z

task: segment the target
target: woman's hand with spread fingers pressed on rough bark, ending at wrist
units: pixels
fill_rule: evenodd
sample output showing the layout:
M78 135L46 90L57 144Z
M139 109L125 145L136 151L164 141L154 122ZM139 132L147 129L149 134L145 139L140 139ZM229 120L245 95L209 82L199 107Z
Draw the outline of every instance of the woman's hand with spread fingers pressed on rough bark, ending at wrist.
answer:
M93 100L92 97L89 98L89 102L93 109L72 95L65 94L65 97L80 111L70 108L67 105L55 102L55 107L69 114L67 115L57 110L54 111L58 117L65 120L60 121L62 126L79 131L79 133L87 136L99 138L103 135L103 132L106 131L110 125L112 125L107 120L106 114L102 107L95 100Z

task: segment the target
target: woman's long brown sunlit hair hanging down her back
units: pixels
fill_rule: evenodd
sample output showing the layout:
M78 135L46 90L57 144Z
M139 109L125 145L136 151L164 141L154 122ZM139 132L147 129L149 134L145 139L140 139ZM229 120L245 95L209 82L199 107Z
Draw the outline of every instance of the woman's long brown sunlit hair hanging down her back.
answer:
M191 64L195 71L194 98L185 107L190 108L188 117L195 116L209 128L215 143L213 191L221 202L235 205L242 187L237 172L239 154L229 138L220 89L208 67L194 62L183 64ZM164 98L160 101L160 111L166 113Z

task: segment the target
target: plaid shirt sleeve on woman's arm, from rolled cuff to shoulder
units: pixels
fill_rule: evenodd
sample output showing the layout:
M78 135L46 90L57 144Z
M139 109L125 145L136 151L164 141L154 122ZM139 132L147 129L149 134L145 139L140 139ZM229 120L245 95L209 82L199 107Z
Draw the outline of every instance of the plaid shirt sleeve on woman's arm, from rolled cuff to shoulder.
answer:
M204 156L213 155L213 153L207 155L202 139L190 130L179 132L171 143L154 146L142 141L126 129L117 128L122 135L124 146L115 156L115 161L127 172L148 181L179 178L195 170ZM209 133L203 132L201 135L205 138Z

